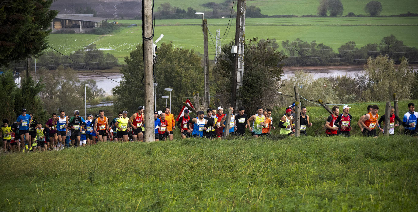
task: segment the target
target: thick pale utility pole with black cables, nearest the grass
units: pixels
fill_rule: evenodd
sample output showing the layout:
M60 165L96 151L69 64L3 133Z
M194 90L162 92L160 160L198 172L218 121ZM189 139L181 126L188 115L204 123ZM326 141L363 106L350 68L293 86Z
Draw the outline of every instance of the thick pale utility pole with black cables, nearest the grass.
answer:
M143 0L143 14L144 24L143 31L146 38L150 38L153 35L152 31L152 0ZM153 111L153 39L145 40L143 38L144 46L144 78L145 78L145 142L154 141L154 111Z

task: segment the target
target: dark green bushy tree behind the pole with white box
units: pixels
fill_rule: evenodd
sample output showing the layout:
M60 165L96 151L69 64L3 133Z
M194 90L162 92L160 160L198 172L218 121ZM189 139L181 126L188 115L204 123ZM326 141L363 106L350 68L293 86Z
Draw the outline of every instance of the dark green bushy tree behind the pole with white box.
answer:
M268 48L270 43L270 39L258 41L258 38L252 38L245 43L242 105L248 112L255 112L257 106L273 108L278 101L276 91L282 87L279 81L283 77L282 60L286 56L274 48ZM232 45L234 41L222 47L222 53L213 70L217 94L225 95L226 101L230 101L228 94L231 93L234 70L234 54L230 51ZM229 104L223 106L226 105Z

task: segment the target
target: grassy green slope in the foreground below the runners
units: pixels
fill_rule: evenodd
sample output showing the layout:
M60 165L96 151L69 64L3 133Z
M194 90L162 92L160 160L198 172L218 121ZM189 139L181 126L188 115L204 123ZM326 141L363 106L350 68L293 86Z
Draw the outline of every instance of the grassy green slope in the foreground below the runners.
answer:
M101 143L0 156L2 211L415 211L416 138Z

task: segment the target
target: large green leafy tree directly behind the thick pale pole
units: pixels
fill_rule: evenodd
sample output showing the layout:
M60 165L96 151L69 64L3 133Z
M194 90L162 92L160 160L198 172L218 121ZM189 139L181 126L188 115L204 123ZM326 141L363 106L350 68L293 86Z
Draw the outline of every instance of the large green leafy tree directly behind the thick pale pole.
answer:
M203 70L201 58L194 50L173 48L172 43L162 43L158 48L158 62L155 64L154 77L157 86L157 110L163 110L166 101L162 95L168 95L164 88L172 88L171 107L175 114L181 109L182 102L192 97L193 92L203 93ZM136 112L138 106L145 105L143 80L143 49L136 49L125 57L126 65L120 69L123 74L121 84L112 89L115 95L114 110ZM148 110L148 108L145 108ZM153 109L150 109L153 110Z

